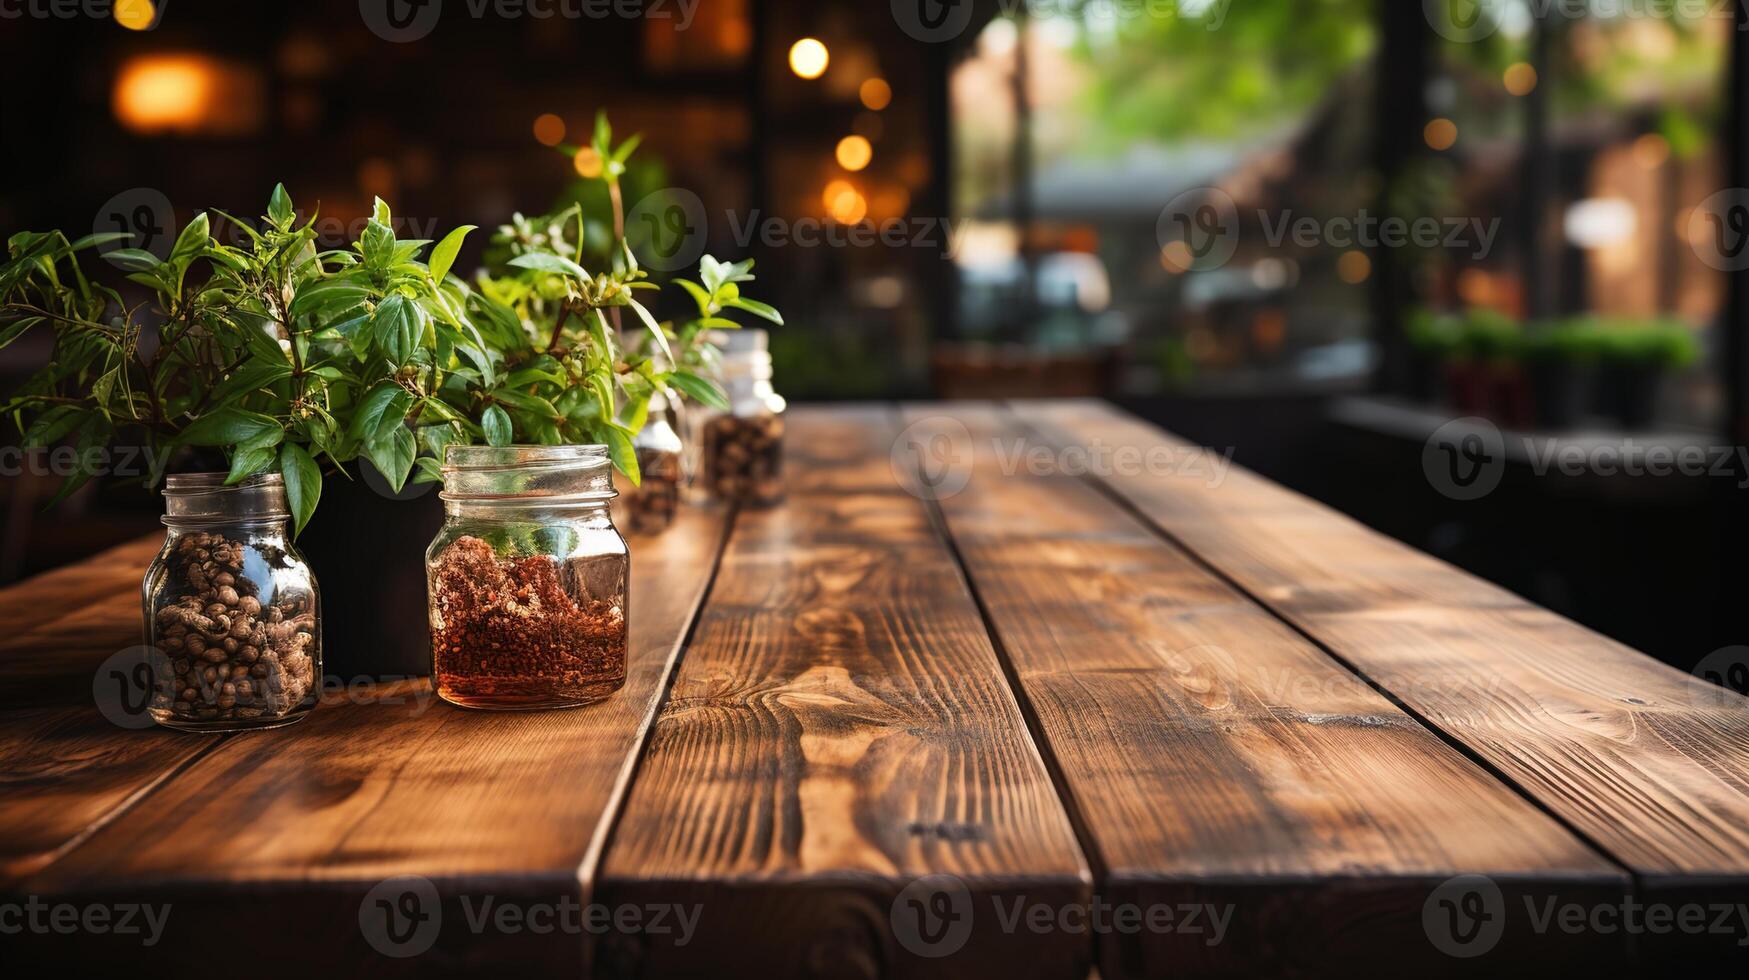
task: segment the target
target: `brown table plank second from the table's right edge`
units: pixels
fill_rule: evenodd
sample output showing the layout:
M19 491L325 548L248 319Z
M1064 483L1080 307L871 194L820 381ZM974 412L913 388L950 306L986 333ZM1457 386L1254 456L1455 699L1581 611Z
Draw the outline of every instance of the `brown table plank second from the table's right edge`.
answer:
M1434 947L1424 905L1455 875L1567 900L1620 900L1627 875L1083 480L1011 467L1035 441L1006 413L906 415L955 434L971 466L939 506L1100 889L1228 914L1219 942L1209 915L1198 931L1114 933L1102 976L1620 962L1621 942L1537 936L1522 915L1518 942L1487 959Z

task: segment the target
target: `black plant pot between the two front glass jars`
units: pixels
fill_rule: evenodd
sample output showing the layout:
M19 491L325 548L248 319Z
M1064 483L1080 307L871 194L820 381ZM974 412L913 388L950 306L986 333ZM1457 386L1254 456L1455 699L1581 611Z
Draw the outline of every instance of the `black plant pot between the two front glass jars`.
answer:
M430 674L425 548L441 525L436 485L409 483L395 499L374 469L324 480L322 504L297 546L322 583L329 674L345 681Z

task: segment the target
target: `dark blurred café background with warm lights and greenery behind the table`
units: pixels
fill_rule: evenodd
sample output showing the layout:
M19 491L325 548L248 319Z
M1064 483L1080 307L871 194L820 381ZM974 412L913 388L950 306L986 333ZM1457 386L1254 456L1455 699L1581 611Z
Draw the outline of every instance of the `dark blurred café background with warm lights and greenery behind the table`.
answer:
M589 192L574 150L605 108L645 138L631 205L689 189L700 245L759 261L791 401L1109 397L1688 668L1746 640L1744 23L1536 0L7 0L0 229L164 236L259 214L275 182L341 229L373 196L402 236L491 229ZM1214 261L1175 231L1210 214ZM1464 231L1331 231L1364 215ZM1300 219L1320 231L1280 234ZM1534 338L1574 317L1695 350L1567 369ZM33 340L0 354L7 385L49 355ZM1462 416L1532 457L1735 462L1509 455L1462 502L1422 469ZM54 485L0 481L0 579L154 527L136 483L45 514Z

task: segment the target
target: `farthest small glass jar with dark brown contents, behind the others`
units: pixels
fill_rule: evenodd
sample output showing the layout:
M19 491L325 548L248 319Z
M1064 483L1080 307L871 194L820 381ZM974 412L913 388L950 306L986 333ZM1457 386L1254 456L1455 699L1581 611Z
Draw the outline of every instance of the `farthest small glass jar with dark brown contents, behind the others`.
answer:
M784 499L784 397L771 388L770 336L728 331L721 380L729 411L700 425L705 490L721 500L771 506Z

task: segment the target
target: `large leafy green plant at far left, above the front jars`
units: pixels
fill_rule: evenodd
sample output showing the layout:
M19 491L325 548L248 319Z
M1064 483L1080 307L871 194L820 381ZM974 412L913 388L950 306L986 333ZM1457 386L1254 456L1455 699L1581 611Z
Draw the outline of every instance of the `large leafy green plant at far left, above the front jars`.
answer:
M367 458L399 490L418 455L404 422L465 422L434 392L456 359L493 371L463 315L465 287L448 275L470 229L439 242L427 264L418 256L429 242L397 242L383 201L359 242L334 250L318 250L315 214L299 222L283 186L259 229L213 214L240 243L217 240L201 214L163 261L138 248L108 254L149 294L131 306L79 264L119 236L12 236L0 345L31 327L54 331L52 360L3 404L24 443L72 436L86 450L138 427L154 446L215 448L229 483L282 472L297 530L320 500L324 458L336 471ZM61 495L91 476L82 464Z

